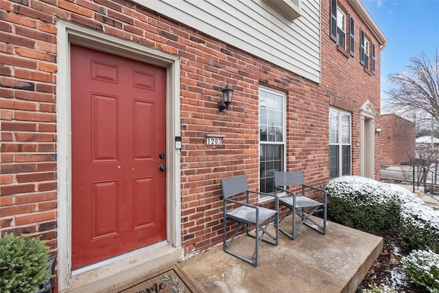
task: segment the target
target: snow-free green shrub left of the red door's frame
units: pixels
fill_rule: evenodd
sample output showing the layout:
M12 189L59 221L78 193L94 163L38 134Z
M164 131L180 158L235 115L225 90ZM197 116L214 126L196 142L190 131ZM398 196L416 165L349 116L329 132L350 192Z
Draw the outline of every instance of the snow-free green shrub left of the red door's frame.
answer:
M49 248L38 238L6 233L0 239L0 288L2 293L36 292L52 277Z

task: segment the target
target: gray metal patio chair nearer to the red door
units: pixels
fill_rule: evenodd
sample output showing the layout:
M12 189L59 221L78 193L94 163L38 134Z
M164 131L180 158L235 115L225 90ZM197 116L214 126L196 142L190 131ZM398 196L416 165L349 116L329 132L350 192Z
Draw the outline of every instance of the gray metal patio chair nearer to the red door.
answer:
M268 232L267 228L270 223L276 224L278 221L278 202L274 194L265 194L259 191L251 191L248 189L246 175L241 175L233 178L221 180L221 188L224 201L224 219L223 219L223 248L224 252L246 263L250 263L253 266L258 266L259 263L259 244L261 241L268 244L277 246L278 244L278 229L276 226L276 235L272 235ZM267 209L265 207L259 207L254 204L250 204L250 194L263 194L265 196L274 197L275 210ZM245 195L245 202L244 202ZM235 199L232 199L235 198ZM227 242L227 222L232 220L237 222L237 228L233 233L230 240ZM254 227L254 231L253 230ZM254 237L255 246L250 258L244 257L241 253L239 255L236 252L231 251L230 245L232 244L235 236L240 228L244 228L246 234L250 237ZM264 236L268 235L268 239L264 239Z

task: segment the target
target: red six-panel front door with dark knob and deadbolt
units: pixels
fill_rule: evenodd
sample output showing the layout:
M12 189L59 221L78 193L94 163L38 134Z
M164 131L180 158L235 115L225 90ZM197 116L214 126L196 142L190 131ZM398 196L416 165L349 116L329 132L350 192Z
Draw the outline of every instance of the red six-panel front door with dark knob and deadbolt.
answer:
M71 45L73 269L166 239L165 82Z

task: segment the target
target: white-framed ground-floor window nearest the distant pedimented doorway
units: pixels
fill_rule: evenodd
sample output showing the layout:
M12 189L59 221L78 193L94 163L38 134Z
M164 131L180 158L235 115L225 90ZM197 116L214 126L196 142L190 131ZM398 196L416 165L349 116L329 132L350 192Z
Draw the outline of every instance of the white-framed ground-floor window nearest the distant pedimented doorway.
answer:
M351 114L329 109L329 178L351 174Z

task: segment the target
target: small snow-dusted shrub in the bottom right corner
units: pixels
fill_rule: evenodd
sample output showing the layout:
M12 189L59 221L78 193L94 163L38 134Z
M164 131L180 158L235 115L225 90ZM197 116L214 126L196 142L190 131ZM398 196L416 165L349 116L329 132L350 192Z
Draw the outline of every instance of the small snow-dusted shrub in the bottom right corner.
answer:
M427 250L414 250L401 260L412 283L428 292L439 293L439 255Z

